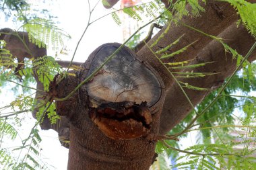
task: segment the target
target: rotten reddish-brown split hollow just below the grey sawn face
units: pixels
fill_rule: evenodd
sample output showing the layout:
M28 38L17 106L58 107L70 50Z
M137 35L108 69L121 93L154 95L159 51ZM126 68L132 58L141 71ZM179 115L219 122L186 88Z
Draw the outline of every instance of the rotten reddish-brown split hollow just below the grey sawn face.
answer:
M131 140L150 132L152 117L146 102L102 103L89 112L92 121L108 138Z

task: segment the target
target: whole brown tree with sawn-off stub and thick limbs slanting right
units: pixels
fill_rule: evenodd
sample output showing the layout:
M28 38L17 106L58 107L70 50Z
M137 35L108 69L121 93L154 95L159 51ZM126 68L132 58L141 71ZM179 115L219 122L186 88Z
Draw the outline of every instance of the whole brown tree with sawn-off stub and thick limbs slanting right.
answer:
M113 4L116 2L114 0ZM183 23L207 34L225 38L228 45L240 54L246 54L255 40L245 28L236 28L235 22L238 19L236 11L228 3L223 2L208 1L204 7L205 13L202 13L201 17L185 17L182 19ZM166 28L168 24L148 44L151 45ZM156 52L168 46L183 34L185 36L181 38L179 44L170 49L170 52L179 50L195 40L198 41L181 55L165 62L194 59L191 64L197 64L214 61L193 71L218 74L202 79L179 79L179 81L196 87L210 89L220 87L224 79L236 68L236 60L232 59L230 54L225 54L222 45L211 38L185 26L173 24L152 50ZM102 48L106 46L108 47ZM118 46L118 44L106 44L96 49L82 65L84 69L76 73L75 77L67 77L58 84L57 97L65 97L73 91L103 62L102 58L106 58ZM108 51L109 49L112 50ZM102 56L103 54L106 55ZM121 57L117 54L112 62L103 67L72 97L66 101L57 101L58 114L65 116L67 122L71 124L68 169L148 169L152 163L156 144L156 141L152 140L154 135L159 132L165 134L191 111L191 105L177 83L174 83L168 71L160 65L147 46L141 48L137 55L127 48L121 49L119 54ZM130 55L129 63L135 64L124 64L125 62L121 60L123 54ZM255 58L254 52L249 60ZM125 67L129 67L130 70L127 71ZM148 79L148 73L156 79ZM131 79L131 77L135 78ZM41 88L38 83L38 89ZM145 91L146 88L149 91ZM187 89L185 91L193 105L199 103L209 93L209 91ZM141 95L138 95L138 92ZM144 101L148 105L143 103ZM107 122L113 124L115 128L109 126ZM126 127L127 124L129 126ZM140 127L139 134L132 131L132 127L135 126ZM63 132L66 133L68 126L63 125L63 127L65 127ZM136 135L131 137L127 132Z

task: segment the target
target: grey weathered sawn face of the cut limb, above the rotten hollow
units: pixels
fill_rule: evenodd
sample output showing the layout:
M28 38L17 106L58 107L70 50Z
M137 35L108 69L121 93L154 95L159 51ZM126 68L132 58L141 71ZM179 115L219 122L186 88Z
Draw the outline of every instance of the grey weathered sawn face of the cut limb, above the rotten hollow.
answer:
M92 63L86 74L91 75L120 44L104 44L90 57ZM86 78L84 77L84 79ZM86 84L88 95L96 101L147 101L154 105L161 96L161 85L156 75L141 63L127 47L122 48L94 78Z

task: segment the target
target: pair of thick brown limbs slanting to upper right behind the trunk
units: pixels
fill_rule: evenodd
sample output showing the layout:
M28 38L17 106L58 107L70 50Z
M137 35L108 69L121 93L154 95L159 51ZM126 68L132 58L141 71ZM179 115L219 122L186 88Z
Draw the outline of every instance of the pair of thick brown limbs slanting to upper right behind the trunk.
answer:
M246 54L255 40L242 26L236 28L237 19L238 16L236 15L236 11L228 5L228 3L210 1L205 5L205 13L202 13L201 17L193 19L185 17L182 21L183 23L193 26L207 34L225 38L224 42L236 49L240 54ZM165 28L152 38L149 45L152 44L167 27L168 26L166 25ZM164 35L164 38L154 46L153 50L156 52L162 47L168 46L168 44L183 34L185 34L185 36L183 36L179 44L171 49L172 51L179 50L195 40L198 41L181 55L174 59L170 58L169 60L166 60L166 62L178 62L193 58L195 58L193 64L214 61L213 64L195 69L194 72L199 71L201 73L208 72L219 74L209 76L206 79L179 79L179 81L187 82L189 85L194 85L196 87L212 89L220 87L224 82L224 79L234 71L236 60L232 60L232 56L224 52L223 46L212 40L212 38L200 34L199 32L195 32L185 26L172 25L167 34ZM185 96L177 83L174 83L174 79L172 79L170 74L162 67L162 65L160 65L156 57L150 50L148 50L147 46L141 48L141 50L137 52L137 55L141 60L148 62L154 67L164 81L167 93L160 119L160 133L165 134L189 114L192 109L191 105L189 105L187 99L185 99ZM249 60L255 60L255 52ZM183 72L185 71L187 70L183 70ZM194 105L199 103L209 92L210 91L186 90L186 93L189 95L189 98Z

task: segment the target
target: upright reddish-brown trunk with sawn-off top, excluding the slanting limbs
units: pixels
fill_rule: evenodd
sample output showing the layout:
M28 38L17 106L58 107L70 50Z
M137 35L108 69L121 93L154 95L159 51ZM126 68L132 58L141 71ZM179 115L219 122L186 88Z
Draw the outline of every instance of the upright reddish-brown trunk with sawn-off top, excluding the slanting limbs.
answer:
M84 79L86 79L86 77L88 77L90 73L102 63L102 58L106 58L109 54L112 54L117 50L118 46L119 44L104 44L92 52L85 64L82 65L84 69L80 71L80 73L77 73L77 77L69 77L59 83L59 86L57 87L58 97L65 97L65 95L70 93L77 86L77 81L84 81ZM120 62L120 59L122 62ZM115 58L112 59L112 62L108 62L102 71L86 83L86 85L81 87L73 97L67 101L57 101L57 112L61 116L67 116L71 121L71 143L69 147L68 169L148 169L150 167L154 156L156 141L147 138L147 136L158 134L164 91L161 88L161 81L156 82L158 85L156 87L153 83L148 84L148 82L154 82L152 79L148 80L148 82L145 80L148 71L150 71L153 78L157 77L157 79L159 79L158 75L155 75L154 70L146 71L146 69L150 69L150 67L141 62L131 62L134 60L137 60L135 54L133 54L129 48L122 48L116 54ZM115 63L115 67L113 66L113 63ZM137 63L140 67L137 67L137 64L133 65L132 63ZM121 67L123 65L127 65L128 68ZM143 97L141 99L137 99L137 96L135 96L135 98L121 97L119 99L120 101L123 101L121 103L123 106L121 106L120 103L110 103L108 100L104 100L104 95L108 95L108 88L110 87L104 89L105 91L102 92L102 98L97 96L97 93L94 93L94 90L92 90L91 87L93 87L92 84L94 84L94 81L96 82L98 89L106 87L104 84L101 86L99 85L98 81L102 79L100 75L102 75L102 73L108 73L109 69L111 70L113 68L117 69L115 73L122 73L118 75L118 77L114 76L110 79L108 77L108 80L106 80L112 85L113 83L117 83L116 86L111 86L112 90L116 89L114 90L114 92L117 93L115 94L116 97L127 91L125 88L113 88L118 87L118 83L121 83L118 79L124 80L127 74L135 75L136 71L137 77L140 77L142 81L136 81L135 78L131 79L131 81L127 81L126 79L124 81L125 84L119 84L120 87L125 87L126 84L128 85L127 87L133 87L135 85L135 89L133 90L137 93L141 93L143 92L143 89L139 87L140 85L142 85L142 87L145 84L148 84L149 86L153 85L153 87L148 88L148 93L152 94L154 94L154 91L152 91L153 89L151 88L156 88L158 91L160 89L160 94L158 94L160 98L157 100L149 99L148 103L151 104L148 108L142 107L141 110L136 111L135 109L131 111L140 112L143 120L141 120L141 117L135 118L137 116L126 117L120 115L122 112L123 114L129 114L130 111L127 110L131 109L131 105L135 108L140 108L139 105L133 104L134 101L131 103L130 101L126 101L127 99L141 102L144 99ZM144 69L140 71L141 68ZM131 71L124 73L124 71L129 69L135 69L135 72ZM133 76L131 75L131 77ZM146 85L146 87L148 87L148 85ZM63 89L63 87L66 88ZM88 91L91 91L91 93L88 93ZM112 97L109 99L111 98ZM100 105L101 103L106 104ZM141 103L141 105L145 106L145 103ZM102 108L106 108L106 110L102 110ZM101 112L105 112L103 114L110 113L114 116L99 116L98 120L94 121L95 116L89 116L94 110L101 110ZM150 115L145 114L144 111L146 111L146 113L150 111ZM108 131L106 132L106 130L104 130L105 126L102 128L102 124L98 124L98 122L106 122L106 125L112 124L115 126L115 135L109 135ZM146 125L143 122L146 122ZM124 128L126 125L129 126ZM139 135L137 135L138 131L133 133L133 129L138 126L146 127L148 131L145 132L142 130ZM129 136L130 133L131 136ZM132 136L133 134L135 134L135 136Z

